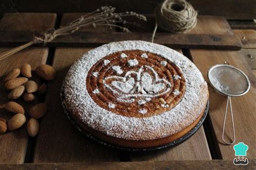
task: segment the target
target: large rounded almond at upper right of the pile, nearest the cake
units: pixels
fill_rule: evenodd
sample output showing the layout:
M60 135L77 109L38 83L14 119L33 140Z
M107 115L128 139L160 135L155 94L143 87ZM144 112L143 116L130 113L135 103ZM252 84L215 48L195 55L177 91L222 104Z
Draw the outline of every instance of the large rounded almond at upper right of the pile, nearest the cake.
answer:
M47 64L42 64L36 68L36 73L38 76L42 77L45 80L52 80L56 76L56 71L52 66Z

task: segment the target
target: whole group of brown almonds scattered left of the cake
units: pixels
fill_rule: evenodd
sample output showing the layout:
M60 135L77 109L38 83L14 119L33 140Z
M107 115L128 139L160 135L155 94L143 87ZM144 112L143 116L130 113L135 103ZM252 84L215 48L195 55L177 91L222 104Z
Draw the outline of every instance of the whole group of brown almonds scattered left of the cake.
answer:
M52 66L42 64L36 68L36 73L39 77L44 80L52 80L55 78L56 71ZM20 74L24 77L18 77ZM8 98L11 100L22 98L31 103L35 100L36 92L41 95L47 91L47 86L45 83L38 86L36 81L29 80L32 78L31 66L29 64L23 64L21 69L14 69L10 71L4 79L4 87L9 90ZM2 105L6 111L14 113L15 115L6 123L6 120L0 119L0 134L8 131L14 131L22 127L26 123L25 110L22 105L16 103L15 101L9 101ZM38 103L32 106L28 113L28 123L27 130L30 137L35 137L39 131L40 119L44 116L47 111L47 106L45 103Z

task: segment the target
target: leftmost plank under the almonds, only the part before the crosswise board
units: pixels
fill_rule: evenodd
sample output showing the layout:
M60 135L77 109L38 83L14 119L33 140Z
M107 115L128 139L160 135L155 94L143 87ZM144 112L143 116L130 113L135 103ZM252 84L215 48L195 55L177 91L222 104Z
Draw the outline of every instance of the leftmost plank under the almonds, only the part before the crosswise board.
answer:
M5 50L7 49L0 48L0 52ZM35 70L38 65L46 63L47 56L48 48L30 47L0 61L0 104L9 101L7 98L8 91L4 90L3 84L5 74L12 69L21 67L24 63L29 63L32 70ZM25 102L22 102L21 100L17 100L17 102L25 106L25 111L28 111L28 108L34 104L25 104ZM4 109L0 110L0 117L5 120L9 120L12 115L12 113L8 113ZM27 147L28 134L25 126L19 130L0 135L0 164L22 164L25 159Z

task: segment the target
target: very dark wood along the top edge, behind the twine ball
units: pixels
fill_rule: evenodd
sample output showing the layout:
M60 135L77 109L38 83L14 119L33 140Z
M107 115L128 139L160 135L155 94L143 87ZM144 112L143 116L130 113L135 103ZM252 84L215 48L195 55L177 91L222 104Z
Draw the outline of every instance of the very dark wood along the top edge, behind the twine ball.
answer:
M23 0L23 1L3 1L0 6L0 11L3 12L90 12L94 11L100 6L112 5L117 8L117 11L135 11L139 13L153 13L156 2L159 0L130 0L130 1L118 1L118 0L98 0L98 1L55 1L52 3L50 0ZM254 0L227 0L225 2L221 0L215 1L198 1L190 0L194 9L198 10L200 15L215 15L224 16L228 19L254 19L255 1ZM61 4L61 5L60 5ZM36 6L36 8L35 8Z

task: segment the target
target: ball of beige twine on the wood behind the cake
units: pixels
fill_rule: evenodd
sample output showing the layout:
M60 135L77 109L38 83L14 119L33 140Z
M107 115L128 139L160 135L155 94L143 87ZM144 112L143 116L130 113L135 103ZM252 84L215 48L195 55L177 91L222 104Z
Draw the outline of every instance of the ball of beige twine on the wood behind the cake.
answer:
M197 24L197 11L184 0L166 0L156 8L160 28L173 33L189 31Z

